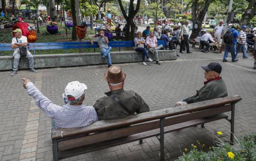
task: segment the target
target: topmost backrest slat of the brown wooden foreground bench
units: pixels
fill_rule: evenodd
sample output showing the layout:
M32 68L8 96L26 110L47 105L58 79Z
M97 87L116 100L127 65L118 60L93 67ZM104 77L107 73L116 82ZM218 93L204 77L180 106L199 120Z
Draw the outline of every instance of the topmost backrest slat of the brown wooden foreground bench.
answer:
M77 128L68 128L68 129L57 129L52 133L53 139L62 138L61 131L63 132L63 138L74 135L89 134L92 132L106 131L109 129L125 127L132 124L139 124L146 121L157 120L162 117L170 117L179 114L184 114L193 111L200 111L204 109L210 109L212 107L218 107L221 105L227 105L230 103L235 103L240 101L242 98L238 95L227 96L223 98L217 98L208 101L201 101L193 104L188 104L186 106L178 106L175 108L166 108L160 109L151 112L139 113L137 115L132 115L125 117L124 119L116 120L102 120L94 122L87 127L77 127Z

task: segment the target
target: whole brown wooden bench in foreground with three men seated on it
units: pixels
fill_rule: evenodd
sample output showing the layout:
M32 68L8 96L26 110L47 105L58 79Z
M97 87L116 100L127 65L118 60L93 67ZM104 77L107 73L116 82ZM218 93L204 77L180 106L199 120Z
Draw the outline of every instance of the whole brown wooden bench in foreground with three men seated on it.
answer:
M226 119L231 124L233 142L235 104L238 95L130 115L119 120L101 120L87 127L52 130L53 161L95 150L118 146L156 136L164 161L164 134L184 128ZM231 111L231 118L224 112ZM212 117L208 117L212 116ZM160 135L160 137L158 137Z

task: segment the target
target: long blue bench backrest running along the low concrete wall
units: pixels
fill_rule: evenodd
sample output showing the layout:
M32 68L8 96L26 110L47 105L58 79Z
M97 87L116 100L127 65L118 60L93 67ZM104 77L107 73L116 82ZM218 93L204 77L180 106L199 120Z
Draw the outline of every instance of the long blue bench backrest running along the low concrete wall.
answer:
M164 41L158 41L158 45L164 46ZM109 41L109 46L112 48L118 48L119 51L122 47L134 47L134 41ZM80 48L99 48L98 44L93 45L90 42L47 42L47 43L29 43L28 49L33 50L34 55L35 50L48 50L48 49L64 49L67 53L67 49L80 49ZM0 44L0 56L1 51L11 51L11 43Z

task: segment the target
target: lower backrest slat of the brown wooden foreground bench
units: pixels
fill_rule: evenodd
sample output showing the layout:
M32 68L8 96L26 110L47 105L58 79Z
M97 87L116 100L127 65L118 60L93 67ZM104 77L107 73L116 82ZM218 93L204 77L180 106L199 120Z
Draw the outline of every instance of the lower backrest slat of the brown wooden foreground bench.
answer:
M165 126L180 124L182 122L200 119L202 117L213 116L218 113L228 112L230 110L231 110L231 105L226 105L218 108L186 113L178 116L172 116L165 119ZM85 145L94 144L97 142L102 142L110 139L116 139L116 138L120 138L128 135L133 135L133 134L141 133L143 131L150 131L157 128L160 128L160 121L154 120L154 121L150 121L143 124L137 124L130 127L123 127L123 128L119 128L111 131L105 131L102 133L87 135L84 137L74 138L70 140L64 139L65 140L64 142L62 142L60 139L60 141L58 141L58 149L67 150L67 149L71 149L79 146L85 146Z

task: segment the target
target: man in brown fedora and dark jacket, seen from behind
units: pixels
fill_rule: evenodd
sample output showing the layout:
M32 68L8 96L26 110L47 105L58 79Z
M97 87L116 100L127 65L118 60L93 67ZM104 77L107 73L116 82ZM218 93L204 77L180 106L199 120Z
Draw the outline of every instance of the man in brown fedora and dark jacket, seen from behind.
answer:
M148 112L149 107L142 97L132 90L124 91L126 74L117 65L109 67L104 79L108 82L109 92L94 104L99 120L120 119L136 113Z

